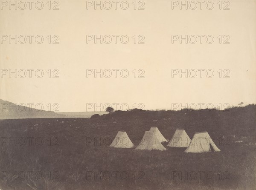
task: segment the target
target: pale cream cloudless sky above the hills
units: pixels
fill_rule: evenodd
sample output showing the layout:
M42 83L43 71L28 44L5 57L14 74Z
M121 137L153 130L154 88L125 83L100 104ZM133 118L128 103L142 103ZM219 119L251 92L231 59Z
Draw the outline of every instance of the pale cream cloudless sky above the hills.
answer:
M22 10L20 3L15 10L1 1L3 100L60 112L256 103L253 0L213 1L213 8L201 9L194 1L195 10L191 1L183 1L187 10L166 0L119 1L116 10L113 1L102 1L102 10L94 1L42 2L42 9L26 3ZM9 41L15 35L17 43ZM101 35L102 43L94 40ZM101 69L102 77L95 76Z

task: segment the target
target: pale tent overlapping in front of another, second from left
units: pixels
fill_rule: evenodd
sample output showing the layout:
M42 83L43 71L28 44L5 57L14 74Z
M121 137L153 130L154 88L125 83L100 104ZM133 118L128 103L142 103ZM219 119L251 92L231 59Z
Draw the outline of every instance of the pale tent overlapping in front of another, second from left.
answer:
M136 150L166 150L166 148L157 140L154 132L145 131L145 134Z

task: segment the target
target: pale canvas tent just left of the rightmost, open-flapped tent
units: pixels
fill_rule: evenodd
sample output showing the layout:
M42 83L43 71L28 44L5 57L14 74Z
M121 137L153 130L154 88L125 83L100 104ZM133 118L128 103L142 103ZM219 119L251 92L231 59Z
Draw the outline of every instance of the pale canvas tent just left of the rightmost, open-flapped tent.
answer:
M168 147L188 147L191 139L184 129L177 129L167 145Z

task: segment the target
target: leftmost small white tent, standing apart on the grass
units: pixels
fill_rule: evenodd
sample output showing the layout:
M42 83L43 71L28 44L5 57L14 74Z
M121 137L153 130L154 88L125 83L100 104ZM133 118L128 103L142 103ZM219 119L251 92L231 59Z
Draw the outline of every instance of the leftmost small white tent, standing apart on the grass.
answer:
M114 148L133 148L134 144L126 132L118 131L115 139L109 146Z

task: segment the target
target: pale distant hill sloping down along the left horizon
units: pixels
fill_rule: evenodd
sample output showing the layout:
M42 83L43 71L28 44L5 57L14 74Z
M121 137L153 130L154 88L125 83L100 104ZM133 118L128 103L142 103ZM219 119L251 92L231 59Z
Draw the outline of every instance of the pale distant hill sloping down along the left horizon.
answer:
M0 99L0 119L25 118L90 118L94 114L107 114L108 112L51 112L34 108L19 106Z

